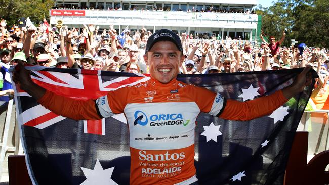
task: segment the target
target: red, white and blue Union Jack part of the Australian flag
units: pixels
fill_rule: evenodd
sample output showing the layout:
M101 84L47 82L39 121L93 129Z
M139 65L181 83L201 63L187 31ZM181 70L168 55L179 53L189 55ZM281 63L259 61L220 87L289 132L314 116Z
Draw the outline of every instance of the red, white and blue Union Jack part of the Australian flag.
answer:
M29 68L29 67L27 67ZM145 75L113 76L111 79L104 79L101 71L69 69L69 73L59 73L56 68L43 69L30 67L32 79L35 83L47 89L52 89L56 94L75 98L78 100L97 99L104 96L108 91L116 90L127 85L134 85L147 81ZM106 73L103 71L103 73ZM132 77L135 76L135 77ZM34 99L25 91L19 90L17 96L24 102L33 102ZM34 101L35 102L35 101ZM42 105L35 102L31 107L23 107L23 125L44 129L52 124L66 119L56 115ZM94 134L105 134L104 120L84 120L84 132Z

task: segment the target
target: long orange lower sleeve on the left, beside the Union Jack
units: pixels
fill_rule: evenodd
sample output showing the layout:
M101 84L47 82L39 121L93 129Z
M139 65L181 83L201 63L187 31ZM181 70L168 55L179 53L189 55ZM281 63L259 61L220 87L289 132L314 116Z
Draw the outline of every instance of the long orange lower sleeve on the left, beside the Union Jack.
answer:
M55 114L75 120L98 120L102 117L97 113L95 100L74 100L56 95L49 90L38 102Z

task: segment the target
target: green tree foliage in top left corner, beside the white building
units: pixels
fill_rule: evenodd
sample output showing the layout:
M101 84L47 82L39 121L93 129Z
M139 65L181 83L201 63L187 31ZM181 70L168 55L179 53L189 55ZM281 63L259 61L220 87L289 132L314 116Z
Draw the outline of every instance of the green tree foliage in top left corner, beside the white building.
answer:
M44 18L49 19L49 9L53 6L53 0L0 0L0 16L10 26L17 25L21 17L30 17L33 23L38 24Z

